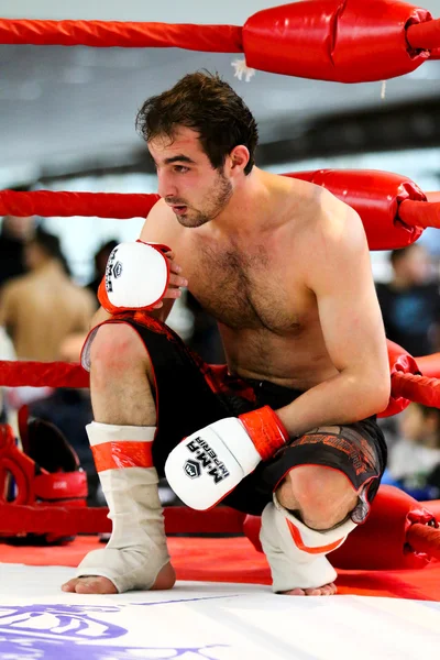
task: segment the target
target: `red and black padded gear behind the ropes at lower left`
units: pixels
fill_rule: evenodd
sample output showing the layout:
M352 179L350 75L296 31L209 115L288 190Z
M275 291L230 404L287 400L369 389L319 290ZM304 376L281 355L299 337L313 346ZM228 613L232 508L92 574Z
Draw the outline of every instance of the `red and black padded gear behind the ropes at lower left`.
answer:
M0 503L86 506L87 475L59 429L42 419L20 426L23 449L18 447L12 428L0 425ZM29 535L26 540L31 538L36 537ZM45 535L40 540L53 543L66 539Z

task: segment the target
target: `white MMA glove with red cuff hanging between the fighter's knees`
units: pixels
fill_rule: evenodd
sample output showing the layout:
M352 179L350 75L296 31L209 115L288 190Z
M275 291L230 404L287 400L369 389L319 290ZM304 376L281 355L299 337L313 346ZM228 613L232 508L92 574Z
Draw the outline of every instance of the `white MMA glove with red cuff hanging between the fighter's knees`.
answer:
M264 406L215 421L185 438L169 453L165 475L186 505L208 509L287 440L288 433L276 413Z

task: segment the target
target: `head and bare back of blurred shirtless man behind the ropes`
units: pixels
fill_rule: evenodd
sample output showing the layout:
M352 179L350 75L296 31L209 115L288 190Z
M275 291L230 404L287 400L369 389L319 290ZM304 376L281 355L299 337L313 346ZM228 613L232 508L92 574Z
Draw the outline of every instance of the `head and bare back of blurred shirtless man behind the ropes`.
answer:
M4 326L19 359L59 359L63 340L87 332L95 301L66 274L57 237L37 229L25 245L29 274L4 285L0 324Z

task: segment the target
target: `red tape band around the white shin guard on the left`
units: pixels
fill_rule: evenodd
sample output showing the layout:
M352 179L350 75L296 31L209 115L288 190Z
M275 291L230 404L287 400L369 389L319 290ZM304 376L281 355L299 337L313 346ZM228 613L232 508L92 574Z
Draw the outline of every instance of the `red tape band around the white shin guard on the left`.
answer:
M151 442L103 442L91 447L97 472L124 468L154 468Z

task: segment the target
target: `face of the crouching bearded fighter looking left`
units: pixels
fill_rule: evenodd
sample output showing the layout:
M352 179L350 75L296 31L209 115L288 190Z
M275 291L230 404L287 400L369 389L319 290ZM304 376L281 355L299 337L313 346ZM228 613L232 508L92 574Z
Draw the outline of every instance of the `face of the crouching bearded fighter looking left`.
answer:
M216 218L232 195L223 169L215 169L198 133L179 128L173 142L157 136L148 142L158 178L158 194L184 227L201 227Z

